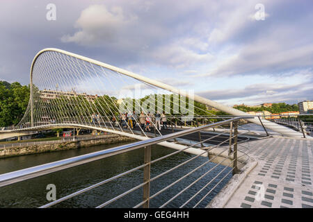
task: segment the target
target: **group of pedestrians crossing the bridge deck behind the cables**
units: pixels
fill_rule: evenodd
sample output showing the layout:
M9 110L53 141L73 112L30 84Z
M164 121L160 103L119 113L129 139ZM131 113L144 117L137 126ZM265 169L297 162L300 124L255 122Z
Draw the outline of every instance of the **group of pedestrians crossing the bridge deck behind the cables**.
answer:
M113 119L112 119L113 120ZM118 121L114 118L115 126L117 126ZM159 130L161 130L161 125L163 125L163 128L168 128L167 125L167 118L165 112L160 114L160 112L157 112L155 115L147 112L146 114L142 111L139 116L136 114L136 112L129 112L120 114L120 126L123 128L136 128L136 123L140 124L142 129L145 129L146 131L151 131L150 127L155 127Z

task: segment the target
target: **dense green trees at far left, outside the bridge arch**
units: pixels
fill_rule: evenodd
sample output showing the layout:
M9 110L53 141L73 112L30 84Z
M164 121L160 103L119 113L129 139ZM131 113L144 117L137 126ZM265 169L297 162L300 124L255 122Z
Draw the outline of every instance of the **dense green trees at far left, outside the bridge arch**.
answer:
M11 126L22 119L30 95L29 85L0 81L0 126Z

